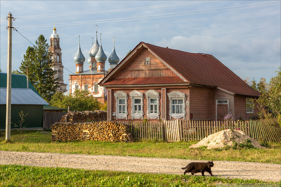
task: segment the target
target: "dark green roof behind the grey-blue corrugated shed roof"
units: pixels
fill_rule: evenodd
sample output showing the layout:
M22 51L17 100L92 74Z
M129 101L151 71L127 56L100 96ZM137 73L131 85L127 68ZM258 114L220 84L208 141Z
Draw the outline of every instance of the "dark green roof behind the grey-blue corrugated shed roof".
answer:
M0 73L0 87L1 88L7 87L7 73ZM26 76L12 74L12 88L27 88ZM40 96L40 94L37 92L37 90L31 84L30 81L28 81L28 88L32 89L35 93L37 93Z

